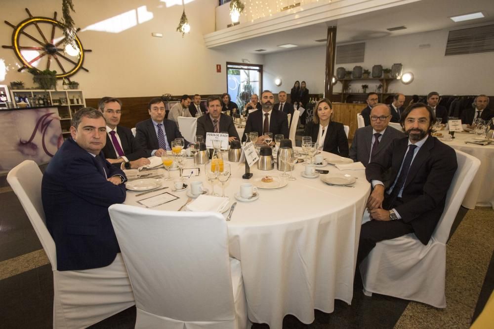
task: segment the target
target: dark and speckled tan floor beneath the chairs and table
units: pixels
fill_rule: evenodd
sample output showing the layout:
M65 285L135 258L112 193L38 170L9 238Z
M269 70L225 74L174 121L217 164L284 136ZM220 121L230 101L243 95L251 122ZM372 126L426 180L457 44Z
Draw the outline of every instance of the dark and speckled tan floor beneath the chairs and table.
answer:
M0 176L0 327L50 328L51 266L17 197L2 186L5 186L4 177ZM465 213L463 209L459 217ZM482 308L494 286L493 222L492 209L469 211L454 233L447 256L447 281L453 289L447 287L446 291L447 301L454 304L449 304L447 309L438 310L383 295L366 297L357 277L352 305L337 300L331 314L316 310L315 321L310 325L287 315L284 328L438 328L451 323L456 328L468 328L475 307ZM132 307L91 328L133 328L134 324L135 307ZM254 324L253 328L268 326Z

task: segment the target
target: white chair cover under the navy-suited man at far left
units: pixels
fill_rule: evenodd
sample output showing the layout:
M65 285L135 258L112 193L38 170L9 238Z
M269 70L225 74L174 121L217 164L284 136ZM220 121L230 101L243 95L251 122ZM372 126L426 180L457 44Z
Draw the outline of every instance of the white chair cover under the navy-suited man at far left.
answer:
M41 203L43 175L36 162L23 161L7 182L28 215L53 271L53 328L85 328L134 305L121 254L109 266L83 271L57 271L55 242L45 224Z

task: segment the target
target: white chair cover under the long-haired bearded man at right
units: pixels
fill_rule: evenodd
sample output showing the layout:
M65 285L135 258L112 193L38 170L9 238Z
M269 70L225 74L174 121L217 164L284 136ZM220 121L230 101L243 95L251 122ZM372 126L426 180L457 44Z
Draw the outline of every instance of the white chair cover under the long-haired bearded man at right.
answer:
M454 174L443 215L429 243L424 246L414 234L378 242L360 264L364 291L446 307L446 242L465 193L480 160L456 151ZM370 292L370 293L369 293Z

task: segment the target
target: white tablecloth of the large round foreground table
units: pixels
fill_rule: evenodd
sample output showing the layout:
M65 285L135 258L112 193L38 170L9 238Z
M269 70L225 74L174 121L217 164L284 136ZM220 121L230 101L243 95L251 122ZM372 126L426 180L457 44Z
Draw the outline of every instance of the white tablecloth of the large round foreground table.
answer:
M339 158L332 153L323 154L327 159ZM192 167L192 160L187 161L186 167ZM245 164L230 164L232 177L225 184L229 206L237 201L234 193L241 183L281 174L276 169L251 168L253 177L244 180ZM199 167L201 176L190 181L203 181L210 189L204 165ZM303 163L296 164L296 181L288 181L284 187L259 188L257 200L237 201L228 222L230 256L241 261L248 317L252 322L268 324L271 329L281 329L287 314L310 324L314 321L314 309L331 313L335 299L350 304L353 296L360 227L371 185L364 170L344 172L357 177L355 187L349 188L326 185L320 178L301 177L303 169ZM340 173L331 165L321 169ZM172 177L178 175L178 171L171 171ZM172 182L163 181L164 186L170 186L165 191L180 198L153 209L178 210L186 202L185 191L171 191ZM214 190L221 193L218 181ZM139 192L127 191L125 204L139 206L138 199L163 191L140 197L135 197Z

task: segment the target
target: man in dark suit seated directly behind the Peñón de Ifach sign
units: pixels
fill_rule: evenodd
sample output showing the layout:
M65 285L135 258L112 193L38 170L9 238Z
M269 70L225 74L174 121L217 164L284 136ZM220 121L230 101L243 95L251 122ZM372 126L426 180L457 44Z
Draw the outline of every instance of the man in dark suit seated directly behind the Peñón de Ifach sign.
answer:
M239 141L239 134L231 116L221 113L221 98L209 96L207 98L207 109L209 113L197 119L196 135L201 135L206 141L206 133L228 132L229 141Z

